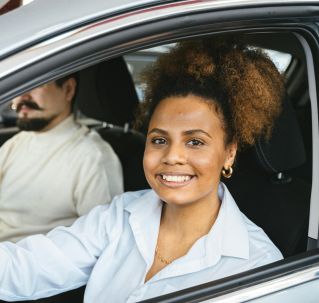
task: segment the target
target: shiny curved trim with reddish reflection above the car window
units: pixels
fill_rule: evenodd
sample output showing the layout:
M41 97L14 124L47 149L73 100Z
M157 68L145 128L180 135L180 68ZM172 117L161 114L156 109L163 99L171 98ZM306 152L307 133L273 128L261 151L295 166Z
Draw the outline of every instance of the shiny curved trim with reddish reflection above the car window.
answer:
M50 55L63 51L74 45L83 43L110 32L121 30L128 26L138 25L148 21L156 21L162 18L178 16L187 13L199 13L207 10L234 9L245 6L260 7L262 5L284 5L284 4L314 4L316 0L216 0L200 1L189 0L163 4L151 8L139 9L134 12L124 13L119 16L106 18L103 21L80 27L76 30L58 35L43 43L21 51L0 62L0 80L13 72L25 68Z

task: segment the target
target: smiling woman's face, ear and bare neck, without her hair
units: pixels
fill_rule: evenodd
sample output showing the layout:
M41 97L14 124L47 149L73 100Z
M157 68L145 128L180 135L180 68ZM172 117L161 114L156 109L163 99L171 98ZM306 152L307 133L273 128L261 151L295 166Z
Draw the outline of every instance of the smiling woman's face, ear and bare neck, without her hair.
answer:
M144 170L165 201L157 247L171 260L186 255L217 218L220 172L233 165L237 147L225 147L224 137L217 113L195 95L164 99L151 118ZM165 265L155 259L147 279Z

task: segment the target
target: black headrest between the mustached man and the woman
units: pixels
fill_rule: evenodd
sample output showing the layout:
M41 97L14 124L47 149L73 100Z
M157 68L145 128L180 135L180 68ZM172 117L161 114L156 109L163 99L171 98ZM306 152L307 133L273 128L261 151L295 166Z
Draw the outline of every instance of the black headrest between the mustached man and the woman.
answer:
M123 126L134 119L138 97L122 57L80 72L76 104L90 118Z

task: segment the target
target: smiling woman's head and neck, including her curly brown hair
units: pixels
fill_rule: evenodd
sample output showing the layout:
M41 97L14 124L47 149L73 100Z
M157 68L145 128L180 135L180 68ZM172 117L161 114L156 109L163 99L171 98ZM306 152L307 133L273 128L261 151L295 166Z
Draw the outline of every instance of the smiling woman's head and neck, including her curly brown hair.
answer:
M164 202L157 255L175 260L214 225L224 201L221 187L227 191L220 178L231 177L237 148L270 136L283 79L265 54L232 38L180 43L144 78L144 171ZM266 255L276 255L268 249ZM250 249L253 262L255 253ZM147 279L167 265L161 258L154 259Z

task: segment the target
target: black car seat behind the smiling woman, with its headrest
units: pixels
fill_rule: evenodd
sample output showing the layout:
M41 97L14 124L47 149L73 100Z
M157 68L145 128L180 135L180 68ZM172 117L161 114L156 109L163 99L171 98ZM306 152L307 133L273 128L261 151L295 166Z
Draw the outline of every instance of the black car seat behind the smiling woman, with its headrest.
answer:
M240 209L262 227L284 256L306 249L311 184L293 174L306 161L303 139L289 99L269 141L238 155L225 183Z

